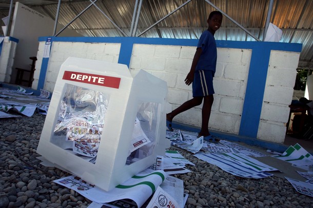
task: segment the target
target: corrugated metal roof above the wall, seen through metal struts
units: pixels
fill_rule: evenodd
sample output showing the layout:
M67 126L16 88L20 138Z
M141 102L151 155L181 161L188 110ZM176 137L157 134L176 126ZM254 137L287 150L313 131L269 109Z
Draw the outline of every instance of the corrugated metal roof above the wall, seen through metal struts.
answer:
M18 2L46 16L55 18L57 0L22 0ZM186 2L188 1L143 0L136 36ZM263 39L269 0L212 0L210 2L253 35L261 40ZM90 4L90 1L62 0L58 22L67 25ZM131 36L130 28L135 4L136 0L98 0L95 2L96 6L92 5L69 25L69 28L76 30L83 36ZM10 1L0 1L1 18L8 15L9 6ZM216 9L205 0L192 0L141 36L199 38L201 32L207 28L206 19L213 10ZM312 11L313 0L274 0L270 17L270 23L283 30L281 42L303 44L299 66L311 69L313 65ZM221 29L218 30L215 37L220 40L256 41L226 17L224 17Z

